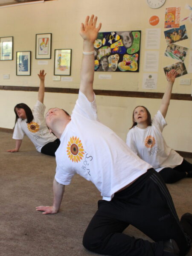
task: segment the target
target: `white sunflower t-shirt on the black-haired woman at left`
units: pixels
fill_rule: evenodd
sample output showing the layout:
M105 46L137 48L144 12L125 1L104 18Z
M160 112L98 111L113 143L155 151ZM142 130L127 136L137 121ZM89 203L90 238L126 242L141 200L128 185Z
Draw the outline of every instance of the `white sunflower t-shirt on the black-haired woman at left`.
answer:
M18 118L13 132L13 139L23 140L23 136L26 134L38 152L41 152L41 148L47 143L55 141L57 137L49 133L45 123L44 111L45 105L37 101L32 110L34 117L32 122L28 124L26 123L26 119L22 120Z

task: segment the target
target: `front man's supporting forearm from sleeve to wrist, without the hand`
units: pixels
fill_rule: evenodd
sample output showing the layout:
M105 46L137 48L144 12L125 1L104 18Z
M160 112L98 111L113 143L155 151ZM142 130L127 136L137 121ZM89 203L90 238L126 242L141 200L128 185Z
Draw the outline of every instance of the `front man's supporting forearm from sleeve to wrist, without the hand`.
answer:
M64 189L65 189L64 185L58 183L55 179L53 180L53 194L54 194L53 207L56 212L58 212L61 206Z

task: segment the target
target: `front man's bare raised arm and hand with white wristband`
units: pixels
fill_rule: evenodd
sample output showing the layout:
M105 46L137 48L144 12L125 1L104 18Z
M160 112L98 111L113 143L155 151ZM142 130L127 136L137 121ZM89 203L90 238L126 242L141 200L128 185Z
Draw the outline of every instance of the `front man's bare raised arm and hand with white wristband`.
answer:
M83 38L83 60L81 64L81 83L80 91L84 93L87 99L92 102L93 94L93 79L94 79L94 46L93 43L97 38L98 32L101 29L101 23L96 27L97 17L87 16L84 23L81 23L80 35Z

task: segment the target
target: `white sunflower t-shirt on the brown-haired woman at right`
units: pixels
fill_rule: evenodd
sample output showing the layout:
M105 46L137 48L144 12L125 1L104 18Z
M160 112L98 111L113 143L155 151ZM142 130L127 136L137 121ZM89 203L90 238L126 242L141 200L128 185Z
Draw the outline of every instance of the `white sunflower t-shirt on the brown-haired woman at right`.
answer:
M127 145L157 172L166 167L174 168L183 161L183 157L166 145L163 139L162 131L166 125L166 120L158 111L151 126L141 129L136 125L127 134Z

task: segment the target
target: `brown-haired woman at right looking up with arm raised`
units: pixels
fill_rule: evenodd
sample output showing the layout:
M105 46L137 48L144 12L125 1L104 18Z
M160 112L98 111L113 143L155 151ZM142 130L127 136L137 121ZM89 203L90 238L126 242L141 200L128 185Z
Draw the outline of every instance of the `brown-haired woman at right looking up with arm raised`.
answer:
M163 95L159 111L151 121L151 115L144 106L133 111L133 125L127 134L126 143L141 159L150 163L166 183L174 183L184 177L192 177L192 164L166 145L162 131L166 126L165 116L169 107L172 87L177 72L166 74L168 86Z

